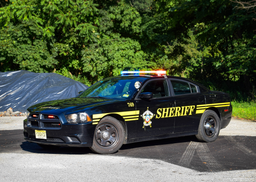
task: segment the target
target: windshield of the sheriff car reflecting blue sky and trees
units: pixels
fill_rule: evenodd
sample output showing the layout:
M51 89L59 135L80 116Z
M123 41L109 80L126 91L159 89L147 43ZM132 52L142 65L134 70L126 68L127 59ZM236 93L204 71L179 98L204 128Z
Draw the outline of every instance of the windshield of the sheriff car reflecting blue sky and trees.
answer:
M137 91L134 87L135 82L142 82L141 80L130 80L112 78L97 82L89 87L86 91L78 95L78 97L103 97L103 98L120 98L130 99Z

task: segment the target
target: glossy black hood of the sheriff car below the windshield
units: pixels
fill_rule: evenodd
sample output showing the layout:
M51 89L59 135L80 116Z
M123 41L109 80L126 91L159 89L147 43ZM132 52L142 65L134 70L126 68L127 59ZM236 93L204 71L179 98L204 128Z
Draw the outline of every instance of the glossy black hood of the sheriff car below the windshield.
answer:
M59 111L62 113L72 112L80 108L91 108L96 103L113 102L114 99L108 98L69 98L62 100L52 100L41 102L28 108L29 112L40 113L41 111Z

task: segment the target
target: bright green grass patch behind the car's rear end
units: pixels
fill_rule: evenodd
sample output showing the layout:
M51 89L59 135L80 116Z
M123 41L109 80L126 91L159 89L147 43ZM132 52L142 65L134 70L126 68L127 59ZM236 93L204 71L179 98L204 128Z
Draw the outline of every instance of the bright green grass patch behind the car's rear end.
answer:
M231 101L231 105L233 107L232 116L256 121L256 102Z

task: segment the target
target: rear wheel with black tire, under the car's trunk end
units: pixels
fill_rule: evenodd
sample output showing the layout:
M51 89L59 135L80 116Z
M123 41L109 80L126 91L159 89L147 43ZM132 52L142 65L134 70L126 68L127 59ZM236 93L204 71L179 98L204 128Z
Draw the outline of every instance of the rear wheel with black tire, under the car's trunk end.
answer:
M200 120L197 139L201 142L214 142L220 133L221 121L216 112L206 110Z

